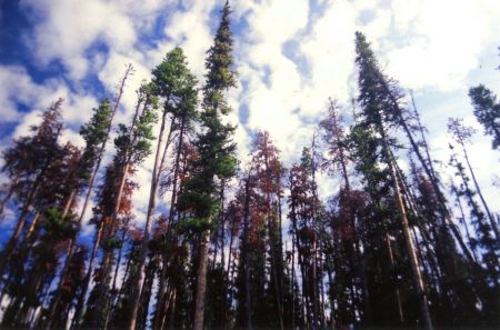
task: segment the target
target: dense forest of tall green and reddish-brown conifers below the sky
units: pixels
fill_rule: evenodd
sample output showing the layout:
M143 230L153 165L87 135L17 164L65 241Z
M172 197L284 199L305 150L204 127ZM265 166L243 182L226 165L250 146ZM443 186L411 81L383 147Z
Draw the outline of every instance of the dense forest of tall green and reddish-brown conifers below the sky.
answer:
M174 48L136 91L128 122L116 114L131 66L114 98L82 109L92 111L84 148L60 143L60 99L4 149L0 217L13 230L0 253L1 328L498 327L500 217L468 154L474 130L449 119L454 178L444 182L412 96L357 32L352 104L332 91L297 163L284 167L266 131L242 162L228 121L230 17L226 2L202 86ZM484 86L469 97L498 150L500 102ZM138 222L134 172L149 156ZM341 182L328 200L320 173Z

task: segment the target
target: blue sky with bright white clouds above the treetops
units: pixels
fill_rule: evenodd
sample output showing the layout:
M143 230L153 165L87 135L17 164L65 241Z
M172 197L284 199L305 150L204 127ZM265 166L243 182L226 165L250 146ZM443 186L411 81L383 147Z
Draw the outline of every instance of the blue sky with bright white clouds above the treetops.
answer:
M0 149L24 136L40 113L64 99L61 142L83 146L78 130L132 63L118 121L127 122L134 90L173 47L182 47L202 83L204 57L223 0L0 0ZM229 93L240 158L268 130L286 166L326 114L329 97L357 97L354 31L372 44L384 72L412 90L429 129L431 154L449 159L447 120L464 118L478 133L472 166L491 209L499 188L498 151L472 114L468 89L500 93L497 0L231 0L238 88ZM349 109L349 107L346 107ZM349 121L350 111L346 110ZM108 160L112 143L108 144ZM153 159L137 172L133 202L144 212ZM404 163L402 163L404 166ZM444 181L452 170L441 168ZM320 178L324 199L336 181ZM90 213L90 212L88 212ZM138 217L138 219L143 217ZM91 230L86 227L86 230Z

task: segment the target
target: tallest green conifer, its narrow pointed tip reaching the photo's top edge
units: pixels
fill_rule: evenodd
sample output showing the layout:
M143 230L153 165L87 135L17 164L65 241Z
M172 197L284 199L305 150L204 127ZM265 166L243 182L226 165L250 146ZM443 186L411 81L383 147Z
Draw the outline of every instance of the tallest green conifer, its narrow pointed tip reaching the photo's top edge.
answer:
M234 176L236 144L230 141L234 127L224 124L221 117L231 111L224 92L236 87L236 72L232 70L232 33L229 16L229 2L222 9L222 18L217 30L213 46L208 50L206 84L203 87L203 111L200 116L202 131L197 136L194 146L199 158L193 164L193 177L186 183L179 196L179 209L189 211L191 221L200 229L200 250L198 254L196 312L193 329L203 328L204 292L207 289L207 261L210 232L214 228L214 217L219 212L218 186L224 179Z

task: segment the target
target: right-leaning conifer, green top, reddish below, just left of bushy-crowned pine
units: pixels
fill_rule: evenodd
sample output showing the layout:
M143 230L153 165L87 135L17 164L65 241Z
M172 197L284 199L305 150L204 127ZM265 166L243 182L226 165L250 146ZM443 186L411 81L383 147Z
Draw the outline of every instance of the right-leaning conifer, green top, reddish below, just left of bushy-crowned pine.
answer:
M110 281L113 250L117 248L114 242L117 229L119 226L119 214L129 209L124 201L130 198L124 194L131 193L133 183L127 178L133 173L133 167L141 163L151 152L152 124L157 121L156 109L158 107L157 97L153 94L153 87L149 83L142 84L138 91L138 102L132 121L129 127L118 126L118 137L114 139L116 154L113 161L107 168L104 183L99 194L98 207L94 208L96 216L96 239L90 256L90 262L86 277L86 286L79 297L77 314L73 323L78 324L83 304L86 291L89 288L93 260L98 248L102 244L103 257L101 260L102 281L97 288L98 302L93 308L97 314L89 314L87 321L90 324L104 326L108 311L108 286ZM128 188L128 189L126 189ZM127 214L130 217L130 214ZM96 289L94 289L96 290Z

